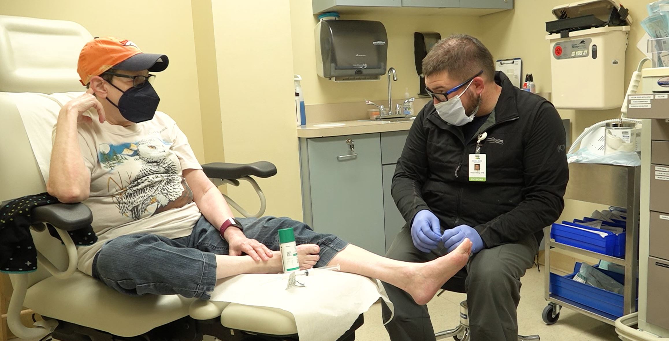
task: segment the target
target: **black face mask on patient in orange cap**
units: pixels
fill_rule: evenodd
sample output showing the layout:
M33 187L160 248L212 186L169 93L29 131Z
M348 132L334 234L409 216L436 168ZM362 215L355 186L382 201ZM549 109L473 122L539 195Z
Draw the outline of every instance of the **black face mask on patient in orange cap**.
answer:
M114 84L111 85L118 89ZM107 100L112 106L118 108L118 111L126 120L139 123L151 120L153 115L156 114L161 98L158 97L156 90L149 82L146 82L141 88L132 87L126 91L120 89L118 91L123 93L118 99L118 105L110 101L109 98Z

